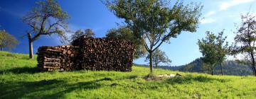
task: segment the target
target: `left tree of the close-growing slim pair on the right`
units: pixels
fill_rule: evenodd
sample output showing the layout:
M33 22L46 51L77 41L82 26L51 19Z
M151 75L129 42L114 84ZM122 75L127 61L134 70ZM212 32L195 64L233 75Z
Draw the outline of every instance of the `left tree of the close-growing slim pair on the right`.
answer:
M209 31L206 32L206 38L198 40L199 50L203 55L204 66L208 66L211 74L213 75L213 69L215 69L218 63L218 52L216 50L216 36Z

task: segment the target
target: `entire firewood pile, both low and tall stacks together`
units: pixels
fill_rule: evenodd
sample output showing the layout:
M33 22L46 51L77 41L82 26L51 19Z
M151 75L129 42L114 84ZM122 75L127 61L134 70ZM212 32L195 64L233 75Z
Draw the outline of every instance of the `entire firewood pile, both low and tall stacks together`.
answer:
M44 71L132 71L133 54L132 42L81 36L72 45L39 47L38 67Z

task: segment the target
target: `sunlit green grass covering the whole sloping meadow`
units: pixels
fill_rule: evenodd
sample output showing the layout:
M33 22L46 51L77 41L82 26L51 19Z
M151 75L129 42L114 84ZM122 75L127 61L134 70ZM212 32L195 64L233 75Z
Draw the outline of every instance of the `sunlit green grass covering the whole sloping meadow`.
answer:
M184 77L146 81L149 68L132 72L41 72L26 54L0 52L0 98L255 98L254 76L210 76L164 69Z

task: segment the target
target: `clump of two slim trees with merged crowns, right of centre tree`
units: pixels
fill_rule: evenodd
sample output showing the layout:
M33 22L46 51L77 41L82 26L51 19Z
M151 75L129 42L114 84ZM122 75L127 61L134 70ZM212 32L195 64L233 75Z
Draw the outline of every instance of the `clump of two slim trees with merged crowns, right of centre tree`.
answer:
M221 73L223 74L222 63L228 54L228 42L225 42L227 37L223 37L223 31L214 35L206 31L206 38L198 40L199 50L203 55L203 68L210 69L213 74L213 69L217 64L221 66Z

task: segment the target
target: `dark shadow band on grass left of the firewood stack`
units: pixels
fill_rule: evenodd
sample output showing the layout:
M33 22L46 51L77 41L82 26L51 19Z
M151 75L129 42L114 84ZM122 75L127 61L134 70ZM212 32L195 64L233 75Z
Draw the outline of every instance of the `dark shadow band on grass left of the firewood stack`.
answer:
M40 72L40 69L38 67L16 67L12 69L5 69L5 70L0 70L0 75L1 74L35 74Z

